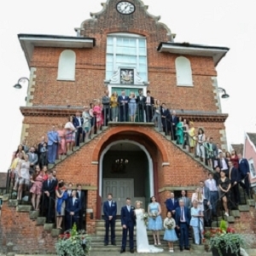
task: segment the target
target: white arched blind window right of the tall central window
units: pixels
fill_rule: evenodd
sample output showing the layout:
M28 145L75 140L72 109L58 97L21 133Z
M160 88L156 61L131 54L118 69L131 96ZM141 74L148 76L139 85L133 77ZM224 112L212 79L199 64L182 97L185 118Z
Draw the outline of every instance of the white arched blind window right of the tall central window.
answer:
M193 86L192 70L189 59L180 56L175 60L177 85Z

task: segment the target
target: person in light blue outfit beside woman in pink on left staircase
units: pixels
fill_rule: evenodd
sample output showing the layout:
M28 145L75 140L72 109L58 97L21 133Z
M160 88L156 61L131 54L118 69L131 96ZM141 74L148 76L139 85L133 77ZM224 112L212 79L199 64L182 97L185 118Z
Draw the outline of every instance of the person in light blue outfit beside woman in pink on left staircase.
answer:
M58 149L59 136L57 131L55 131L55 125L52 126L52 130L48 131L48 162L49 164L54 164Z

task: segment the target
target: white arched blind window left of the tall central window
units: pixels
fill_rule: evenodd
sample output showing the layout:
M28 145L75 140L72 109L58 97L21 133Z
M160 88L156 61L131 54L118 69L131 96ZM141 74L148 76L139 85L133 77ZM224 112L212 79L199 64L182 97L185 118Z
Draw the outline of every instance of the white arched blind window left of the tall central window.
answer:
M71 49L65 49L61 52L58 66L57 80L75 79L76 54Z

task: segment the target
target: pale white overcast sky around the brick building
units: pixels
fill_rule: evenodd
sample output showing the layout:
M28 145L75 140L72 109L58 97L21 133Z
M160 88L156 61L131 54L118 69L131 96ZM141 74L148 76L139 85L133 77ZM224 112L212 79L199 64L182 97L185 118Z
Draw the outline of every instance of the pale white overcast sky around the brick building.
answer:
M20 143L22 115L27 83L21 90L13 85L29 77L25 55L17 38L19 33L76 36L74 27L102 10L104 0L8 0L0 3L0 71L2 99L0 109L2 147L0 172L7 172L11 155ZM228 144L243 143L245 131L255 132L253 89L256 57L256 19L254 1L247 0L145 0L148 12L161 17L176 43L208 44L229 47L218 63L218 86L230 95L222 100Z

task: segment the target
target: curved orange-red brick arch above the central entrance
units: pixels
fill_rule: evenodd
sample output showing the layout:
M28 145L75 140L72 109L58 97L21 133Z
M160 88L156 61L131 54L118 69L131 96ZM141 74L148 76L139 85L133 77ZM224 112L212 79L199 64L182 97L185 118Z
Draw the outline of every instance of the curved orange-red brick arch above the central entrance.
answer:
M131 127L132 127L132 130L131 130ZM104 146L104 144L106 145L108 141L111 141L112 137L117 136L120 133L125 131L129 131L135 134L141 134L144 137L148 138L148 140L154 143L156 148L159 149L162 161L168 162L168 156L165 150L166 147L163 141L160 139L160 134L156 133L155 131L149 130L148 127L143 128L141 126L121 126L121 127L119 126L119 127L111 128L108 132L106 132L104 137L102 137L102 139L99 140L98 143L96 143L96 147L94 148L94 151L92 153L92 161L99 160L100 155L102 153L102 146ZM147 146L145 148L147 148ZM150 150L148 151L150 152Z

